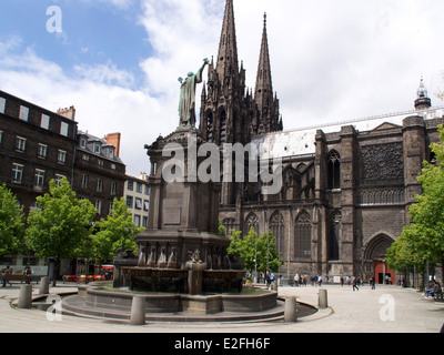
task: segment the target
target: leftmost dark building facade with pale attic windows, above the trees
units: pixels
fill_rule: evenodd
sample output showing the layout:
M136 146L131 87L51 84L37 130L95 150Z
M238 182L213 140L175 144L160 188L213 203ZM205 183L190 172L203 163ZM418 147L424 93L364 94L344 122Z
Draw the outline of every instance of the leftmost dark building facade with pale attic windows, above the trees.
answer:
M75 121L0 91L0 182L27 214L50 180L72 182L77 133Z

